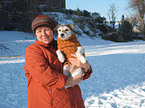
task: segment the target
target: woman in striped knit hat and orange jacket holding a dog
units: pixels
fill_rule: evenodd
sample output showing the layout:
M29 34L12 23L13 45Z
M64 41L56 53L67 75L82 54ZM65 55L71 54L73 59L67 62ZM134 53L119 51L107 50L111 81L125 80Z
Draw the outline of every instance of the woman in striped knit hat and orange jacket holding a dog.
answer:
M53 39L55 26L55 21L45 15L37 16L32 22L37 40L25 51L27 108L84 108L78 84L90 77L92 68L88 62L82 64L73 55L76 59L70 58L69 61L84 68L85 73L73 78L63 75L63 64L56 57L57 42ZM63 89L69 85L74 86Z

